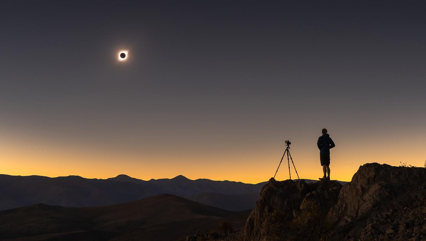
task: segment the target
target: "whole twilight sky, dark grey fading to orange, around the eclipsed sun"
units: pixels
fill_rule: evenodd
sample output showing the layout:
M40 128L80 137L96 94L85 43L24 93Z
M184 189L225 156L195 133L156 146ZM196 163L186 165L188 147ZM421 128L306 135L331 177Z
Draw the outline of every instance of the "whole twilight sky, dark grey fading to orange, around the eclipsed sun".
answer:
M322 128L331 179L368 162L423 167L425 7L2 3L0 173L258 183L290 140L300 178L317 179Z

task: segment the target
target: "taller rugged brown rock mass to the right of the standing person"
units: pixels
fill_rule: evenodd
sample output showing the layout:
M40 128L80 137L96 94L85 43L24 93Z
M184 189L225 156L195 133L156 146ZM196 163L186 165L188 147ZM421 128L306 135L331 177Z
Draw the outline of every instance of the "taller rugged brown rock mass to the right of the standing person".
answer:
M426 239L426 168L361 166L327 215L335 240Z

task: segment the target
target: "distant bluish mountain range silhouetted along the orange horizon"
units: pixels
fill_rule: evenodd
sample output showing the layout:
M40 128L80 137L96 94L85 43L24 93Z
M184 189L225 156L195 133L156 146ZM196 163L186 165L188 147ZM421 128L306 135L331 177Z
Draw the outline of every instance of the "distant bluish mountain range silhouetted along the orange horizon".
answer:
M167 193L225 210L243 211L254 207L265 183L267 182L246 184L209 179L190 180L181 175L173 179L144 181L127 175L86 179L81 176L50 178L1 174L0 210L37 203L62 207L93 207Z

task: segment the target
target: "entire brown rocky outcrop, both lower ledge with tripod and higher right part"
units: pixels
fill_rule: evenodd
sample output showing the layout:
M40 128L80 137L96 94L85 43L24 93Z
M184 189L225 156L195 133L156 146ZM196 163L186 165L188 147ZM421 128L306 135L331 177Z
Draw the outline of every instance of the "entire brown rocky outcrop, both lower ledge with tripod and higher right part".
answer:
M312 204L318 212L312 208L307 212ZM276 219L268 222L277 212L283 217L278 226ZM271 231L274 226L284 235ZM303 237L313 230L322 232ZM243 237L245 241L426 240L426 168L368 163L343 187L334 181L272 179L262 188Z

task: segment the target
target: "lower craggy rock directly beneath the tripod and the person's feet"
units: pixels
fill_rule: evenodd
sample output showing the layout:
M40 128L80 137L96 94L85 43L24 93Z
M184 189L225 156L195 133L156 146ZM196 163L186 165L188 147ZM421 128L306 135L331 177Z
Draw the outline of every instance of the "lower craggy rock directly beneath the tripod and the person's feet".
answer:
M322 214L337 202L342 185L336 181L306 183L304 180L275 181L271 179L262 188L259 201L251 212L243 229L245 241L272 240L268 218L275 212L292 219L300 214L304 204L313 201L321 207Z

